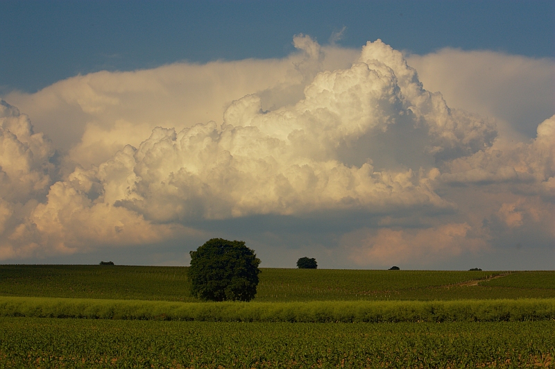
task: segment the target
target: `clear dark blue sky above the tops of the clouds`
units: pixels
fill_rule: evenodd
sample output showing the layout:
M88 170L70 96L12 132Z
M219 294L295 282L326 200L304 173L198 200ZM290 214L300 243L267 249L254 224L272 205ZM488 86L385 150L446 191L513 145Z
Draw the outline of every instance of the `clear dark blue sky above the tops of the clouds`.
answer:
M359 48L554 57L555 1L2 1L0 92L102 69L282 57L293 35Z

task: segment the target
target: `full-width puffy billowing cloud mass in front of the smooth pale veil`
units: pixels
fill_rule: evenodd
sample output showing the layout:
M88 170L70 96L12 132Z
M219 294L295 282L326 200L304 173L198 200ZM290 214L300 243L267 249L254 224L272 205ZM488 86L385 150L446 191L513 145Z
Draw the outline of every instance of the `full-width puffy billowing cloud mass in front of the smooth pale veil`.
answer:
M501 149L493 120L450 109L380 40L332 70L316 42L295 42L296 84L255 89L219 121L154 128L61 180L51 142L3 103L0 258L160 243L250 216L359 214L366 224L327 250L357 266L484 252L507 230L555 239L553 117Z

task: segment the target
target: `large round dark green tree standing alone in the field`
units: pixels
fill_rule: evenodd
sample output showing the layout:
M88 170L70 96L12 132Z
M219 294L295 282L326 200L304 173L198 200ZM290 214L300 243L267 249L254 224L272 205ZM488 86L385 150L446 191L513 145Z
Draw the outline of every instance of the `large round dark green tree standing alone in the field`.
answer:
M244 241L210 239L190 255L192 295L212 301L250 301L255 297L260 259Z

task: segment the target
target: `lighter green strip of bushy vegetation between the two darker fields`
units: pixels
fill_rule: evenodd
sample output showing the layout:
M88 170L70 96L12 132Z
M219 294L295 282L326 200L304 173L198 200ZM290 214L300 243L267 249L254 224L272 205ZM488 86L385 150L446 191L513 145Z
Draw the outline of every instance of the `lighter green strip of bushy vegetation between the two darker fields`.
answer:
M449 322L555 319L555 299L168 302L0 297L0 316L243 322Z

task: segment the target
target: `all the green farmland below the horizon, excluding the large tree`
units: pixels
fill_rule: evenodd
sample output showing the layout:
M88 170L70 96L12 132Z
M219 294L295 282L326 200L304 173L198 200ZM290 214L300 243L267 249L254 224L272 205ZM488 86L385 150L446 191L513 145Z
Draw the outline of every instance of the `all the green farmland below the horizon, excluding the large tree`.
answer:
M184 267L0 266L0 368L555 368L553 332L554 271L263 268L199 302Z

